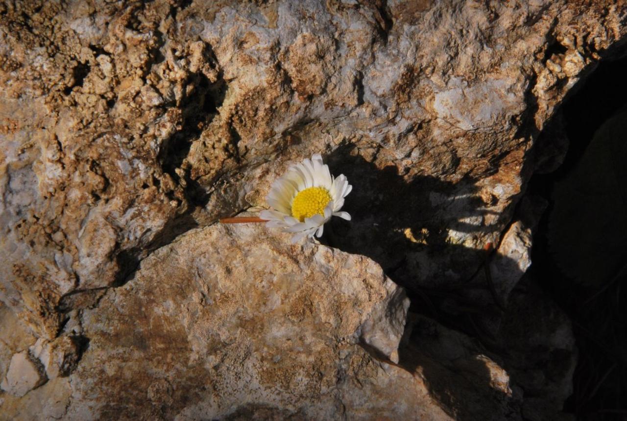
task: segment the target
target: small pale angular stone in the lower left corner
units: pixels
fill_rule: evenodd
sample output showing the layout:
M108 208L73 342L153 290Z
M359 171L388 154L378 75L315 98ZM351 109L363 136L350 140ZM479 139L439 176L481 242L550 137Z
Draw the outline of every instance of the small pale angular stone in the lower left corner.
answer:
M16 397L23 397L30 390L45 383L46 375L41 370L38 361L34 360L28 351L13 354L6 377L0 388Z

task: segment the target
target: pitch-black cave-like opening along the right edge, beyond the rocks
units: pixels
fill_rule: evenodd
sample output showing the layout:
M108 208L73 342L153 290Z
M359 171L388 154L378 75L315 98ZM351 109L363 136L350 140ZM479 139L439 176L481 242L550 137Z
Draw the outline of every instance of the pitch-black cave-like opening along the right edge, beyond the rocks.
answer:
M578 361L564 412L578 420L627 418L626 73L627 56L604 60L567 97L537 148L567 139L563 163L527 188L549 204L528 273L572 321Z

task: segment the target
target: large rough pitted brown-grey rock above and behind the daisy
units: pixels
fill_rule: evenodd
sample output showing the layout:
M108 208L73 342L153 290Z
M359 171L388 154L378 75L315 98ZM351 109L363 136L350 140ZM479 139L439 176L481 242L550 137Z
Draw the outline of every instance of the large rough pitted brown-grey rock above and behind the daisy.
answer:
M313 152L360 180L337 247L409 288L468 277L625 33L624 4L566 0L34 3L1 6L0 298L48 340L76 291L265 205Z

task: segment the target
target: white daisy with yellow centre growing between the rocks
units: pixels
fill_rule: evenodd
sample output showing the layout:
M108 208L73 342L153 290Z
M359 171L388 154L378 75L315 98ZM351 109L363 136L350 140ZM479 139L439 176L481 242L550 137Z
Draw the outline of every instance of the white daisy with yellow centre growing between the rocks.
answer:
M350 221L348 212L340 212L350 190L352 186L344 174L335 178L322 163L322 156L314 154L290 166L272 183L266 196L270 210L261 211L260 216L268 220L268 227L295 233L293 243L305 236L320 237L331 216Z

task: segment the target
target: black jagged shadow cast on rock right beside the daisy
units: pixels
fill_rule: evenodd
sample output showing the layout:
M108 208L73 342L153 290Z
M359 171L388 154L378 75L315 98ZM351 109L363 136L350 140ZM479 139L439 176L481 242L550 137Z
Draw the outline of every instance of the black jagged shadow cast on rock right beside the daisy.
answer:
M477 226L460 220L490 213L477 194L475 180L453 184L432 176L419 176L408 183L398 174L396 166L379 169L360 156L351 144L339 147L326 159L332 173L342 173L353 181L352 192L344 205L352 220L332 218L325 226L323 242L375 260L386 275L408 289L417 307L428 316L438 314L435 307L443 301L453 299L464 304L465 297L456 295L452 291L455 288L448 288L451 285L423 279L418 268L408 262L408 256L421 253L429 260L448 256L456 270L473 268L468 279L460 280L462 284L472 284L477 262L485 261L488 253L451 244L446 237L450 229L475 232ZM435 202L433 195L438 196ZM473 329L465 318L452 317L442 322L456 329Z

